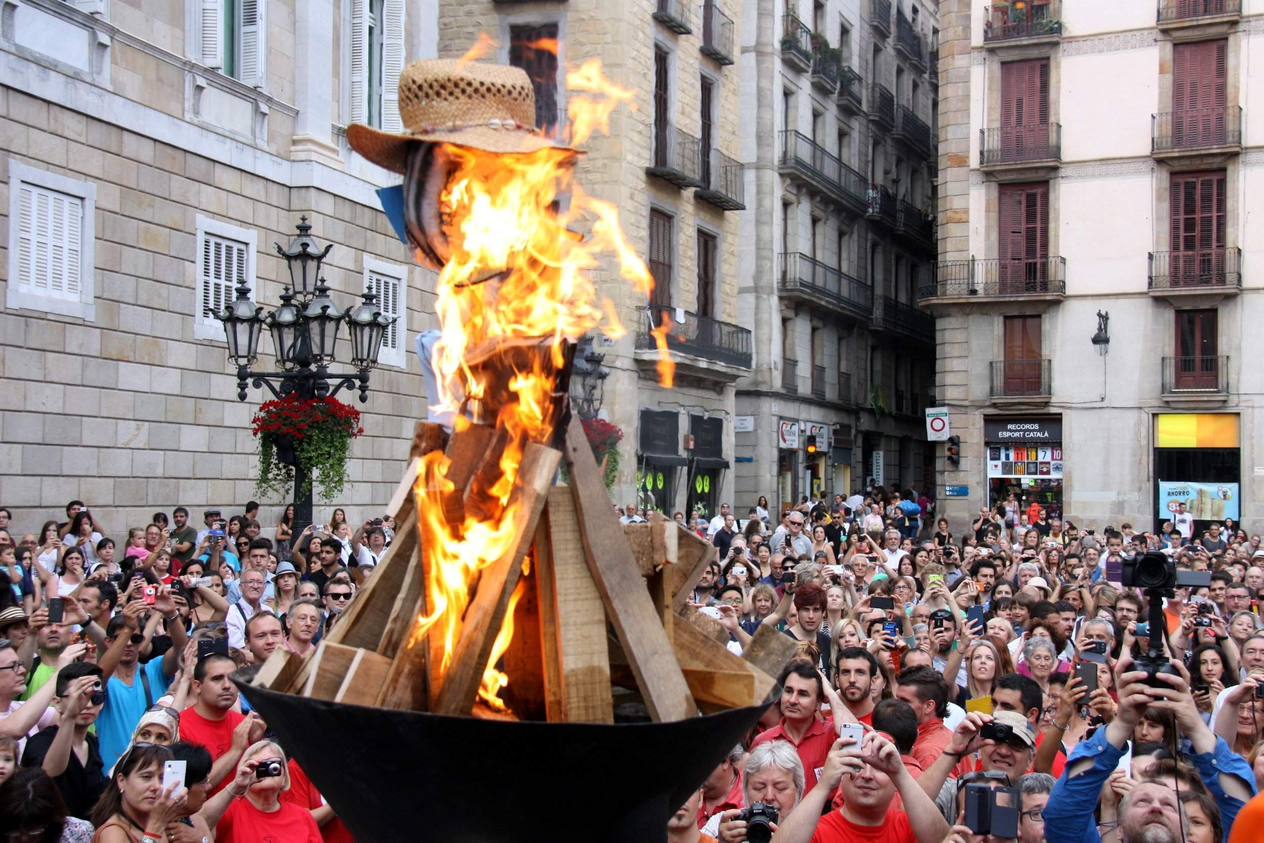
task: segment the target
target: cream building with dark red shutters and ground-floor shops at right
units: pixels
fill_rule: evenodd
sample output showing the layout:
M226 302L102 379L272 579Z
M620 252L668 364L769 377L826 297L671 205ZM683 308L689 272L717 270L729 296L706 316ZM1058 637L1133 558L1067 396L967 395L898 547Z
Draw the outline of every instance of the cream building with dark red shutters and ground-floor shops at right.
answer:
M940 6L942 507L1254 530L1264 5L1019 6Z

